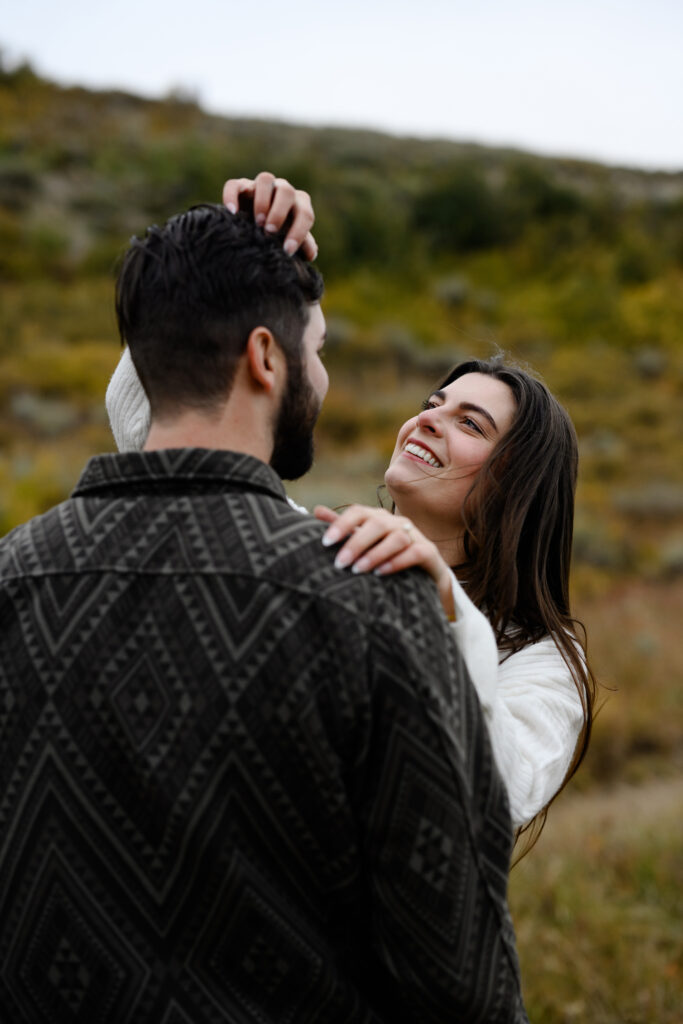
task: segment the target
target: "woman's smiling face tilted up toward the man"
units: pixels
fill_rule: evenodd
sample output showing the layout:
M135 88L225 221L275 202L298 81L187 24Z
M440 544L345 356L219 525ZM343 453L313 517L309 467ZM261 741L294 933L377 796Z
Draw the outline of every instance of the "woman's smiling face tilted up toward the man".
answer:
M462 507L474 477L510 429L511 389L486 374L465 374L430 395L398 431L384 479L396 508L438 543L462 536Z

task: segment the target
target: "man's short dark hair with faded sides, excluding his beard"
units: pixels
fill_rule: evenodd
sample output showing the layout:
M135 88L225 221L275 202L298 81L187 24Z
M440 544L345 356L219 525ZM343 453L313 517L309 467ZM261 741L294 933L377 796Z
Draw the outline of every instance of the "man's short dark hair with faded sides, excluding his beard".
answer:
M317 270L289 256L282 232L267 234L250 211L203 204L133 239L116 311L153 416L224 401L255 327L298 362L307 304L322 294Z

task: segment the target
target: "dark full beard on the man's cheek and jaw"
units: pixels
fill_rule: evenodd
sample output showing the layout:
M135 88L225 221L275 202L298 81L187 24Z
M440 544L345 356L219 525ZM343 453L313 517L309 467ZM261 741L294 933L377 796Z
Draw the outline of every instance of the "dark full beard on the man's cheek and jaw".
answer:
M287 360L287 389L275 422L270 465L283 480L298 480L313 465L313 427L321 402L301 360Z

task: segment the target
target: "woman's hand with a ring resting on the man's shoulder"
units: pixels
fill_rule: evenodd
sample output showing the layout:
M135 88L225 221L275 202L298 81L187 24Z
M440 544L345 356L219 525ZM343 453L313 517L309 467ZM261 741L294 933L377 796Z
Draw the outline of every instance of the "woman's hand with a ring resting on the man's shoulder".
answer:
M316 505L313 515L330 523L323 544L338 544L347 539L337 552L337 568L350 566L351 572L389 575L420 565L436 584L446 615L455 615L451 569L436 545L405 516L367 505L351 505L342 513Z

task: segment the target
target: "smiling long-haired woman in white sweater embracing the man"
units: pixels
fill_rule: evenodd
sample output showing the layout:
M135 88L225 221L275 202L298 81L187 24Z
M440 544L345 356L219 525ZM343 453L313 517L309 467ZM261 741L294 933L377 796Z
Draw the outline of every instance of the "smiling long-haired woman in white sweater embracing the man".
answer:
M226 182L223 200L234 210L244 194L265 229L290 217L290 251L315 255L305 193L263 174ZM127 351L106 403L119 447L141 447L148 407ZM520 830L543 823L591 731L594 681L568 601L577 464L571 422L542 383L500 358L472 360L398 432L385 475L396 514L315 509L330 523L324 543L344 542L340 570L420 565L433 577Z

